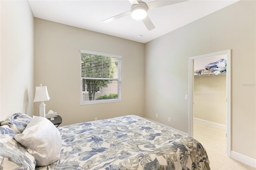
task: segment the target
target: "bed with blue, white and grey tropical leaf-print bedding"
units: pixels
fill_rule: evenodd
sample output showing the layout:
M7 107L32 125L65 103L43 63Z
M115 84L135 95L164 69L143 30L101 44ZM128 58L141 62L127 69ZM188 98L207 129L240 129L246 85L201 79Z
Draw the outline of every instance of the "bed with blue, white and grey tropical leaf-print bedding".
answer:
M20 127L24 130L29 121ZM21 153L15 153L16 159L20 158L17 154L28 156L27 148L13 138L17 132L22 133L22 130L13 130L14 128L10 128L10 120L7 122L2 121L0 128L1 167L7 164L6 160L10 155L2 153L6 152L3 149L10 147L10 143L16 142L15 147L21 150ZM26 166L24 169L37 170L210 170L206 150L200 142L136 115L78 123L57 129L61 134L62 146L60 158L54 163L36 166L33 158L23 159L23 162L8 159L14 160L19 166ZM8 135L14 141L6 144L7 140L3 139Z

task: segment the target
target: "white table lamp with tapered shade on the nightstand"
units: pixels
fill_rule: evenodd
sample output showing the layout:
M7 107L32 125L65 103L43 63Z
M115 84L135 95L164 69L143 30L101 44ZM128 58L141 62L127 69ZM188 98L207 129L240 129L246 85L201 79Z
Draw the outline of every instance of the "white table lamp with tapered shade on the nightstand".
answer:
M36 87L36 92L35 92L35 98L33 102L41 101L41 104L39 105L39 116L40 117L45 117L45 104L44 101L50 100L50 97L48 95L47 87L42 86L40 84L39 87Z

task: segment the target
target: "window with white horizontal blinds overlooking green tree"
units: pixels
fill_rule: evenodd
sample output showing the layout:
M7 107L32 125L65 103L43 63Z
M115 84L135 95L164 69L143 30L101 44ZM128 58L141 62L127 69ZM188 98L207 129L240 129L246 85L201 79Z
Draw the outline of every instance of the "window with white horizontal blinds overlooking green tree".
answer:
M80 50L81 105L121 101L122 56Z

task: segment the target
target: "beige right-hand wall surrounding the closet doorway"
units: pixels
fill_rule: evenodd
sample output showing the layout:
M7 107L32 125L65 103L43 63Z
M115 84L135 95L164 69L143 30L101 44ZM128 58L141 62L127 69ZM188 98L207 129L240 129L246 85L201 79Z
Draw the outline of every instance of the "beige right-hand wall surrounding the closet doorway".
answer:
M231 150L256 159L255 8L239 1L146 43L145 117L188 132L188 58L232 49Z

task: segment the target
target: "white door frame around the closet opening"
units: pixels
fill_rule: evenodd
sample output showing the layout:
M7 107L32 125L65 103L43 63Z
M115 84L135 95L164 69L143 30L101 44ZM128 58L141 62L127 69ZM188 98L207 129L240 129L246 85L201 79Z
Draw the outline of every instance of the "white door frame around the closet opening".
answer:
M231 49L208 53L188 58L188 136L194 136L193 91L194 91L194 60L217 55L226 55L226 151L231 154Z

